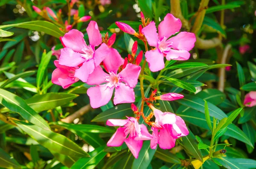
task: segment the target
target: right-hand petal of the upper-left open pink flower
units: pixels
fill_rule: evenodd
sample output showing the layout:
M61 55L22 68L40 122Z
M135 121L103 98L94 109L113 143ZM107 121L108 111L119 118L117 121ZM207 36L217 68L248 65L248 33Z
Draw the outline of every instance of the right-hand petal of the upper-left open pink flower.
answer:
M111 48L111 49L113 49L113 48ZM102 63L102 61L106 57L109 57L111 49L108 48L108 46L105 43L102 43L102 45L99 46L99 48L95 50L94 55L93 55L95 66L99 66L99 64Z

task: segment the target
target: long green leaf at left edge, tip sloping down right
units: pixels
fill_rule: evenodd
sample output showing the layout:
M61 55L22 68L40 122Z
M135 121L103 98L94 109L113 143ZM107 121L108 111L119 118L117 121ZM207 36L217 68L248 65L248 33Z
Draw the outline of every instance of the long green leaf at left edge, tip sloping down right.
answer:
M12 112L17 112L18 114L20 114L25 120L28 120L30 123L49 130L50 127L48 123L40 115L38 115L35 110L29 107L22 98L18 97L17 95L0 89L0 102L1 104L3 104L3 106L10 109Z

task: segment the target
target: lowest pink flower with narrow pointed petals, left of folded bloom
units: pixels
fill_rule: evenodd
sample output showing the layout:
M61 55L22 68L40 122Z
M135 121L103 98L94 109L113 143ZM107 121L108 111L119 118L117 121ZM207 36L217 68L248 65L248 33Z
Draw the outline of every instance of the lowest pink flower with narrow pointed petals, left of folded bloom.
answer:
M140 149L143 145L143 140L151 140L153 137L148 133L148 129L144 124L138 124L136 118L127 117L128 119L109 119L108 126L123 126L119 127L107 146L121 146L123 142L126 143L131 153L135 158L138 158Z

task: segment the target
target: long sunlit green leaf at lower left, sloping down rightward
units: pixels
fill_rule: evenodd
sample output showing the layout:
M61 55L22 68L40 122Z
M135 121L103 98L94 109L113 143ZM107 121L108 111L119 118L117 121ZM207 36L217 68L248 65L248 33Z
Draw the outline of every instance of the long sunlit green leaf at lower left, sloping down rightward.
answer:
M42 129L30 123L15 121L17 126L47 149L63 155L85 157L83 149L64 135Z

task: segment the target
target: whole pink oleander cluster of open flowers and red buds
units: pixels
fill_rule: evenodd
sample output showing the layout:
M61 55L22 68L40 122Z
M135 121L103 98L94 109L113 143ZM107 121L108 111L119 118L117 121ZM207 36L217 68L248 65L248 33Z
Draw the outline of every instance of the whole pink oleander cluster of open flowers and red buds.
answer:
M95 21L90 21L86 29L89 43L85 42L83 33L72 29L60 37L63 49L58 51L52 48L58 59L54 62L57 69L52 72L52 83L61 85L64 89L79 80L94 85L87 90L93 108L106 105L111 100L113 92L115 105L132 103L131 109L135 117L107 120L108 126L120 126L107 145L121 146L125 142L135 158L138 158L143 140L150 140L152 149L156 149L157 144L162 149L171 149L175 146L176 139L188 135L189 130L181 117L171 112L161 112L154 107L156 100L172 101L183 98L183 95L167 93L157 96L157 90L154 90L150 97L142 98L143 104L139 110L133 104L134 88L139 76L144 76L146 63L151 72L156 72L164 68L164 57L167 60L187 60L190 56L189 51L195 43L195 35L189 32L180 32L177 36L171 37L181 28L180 20L172 14L167 14L159 24L158 33L155 23L145 19L142 13L141 20L139 32L125 23L116 22L116 25L122 31L138 37L145 44L146 59L142 67L140 63L143 59L143 51L137 54L137 41L132 46L131 54L123 59L119 52L112 48L116 34L109 37L107 33L102 37ZM149 51L147 43L153 47ZM141 80L140 83L143 84L143 81ZM144 103L152 110L147 117L143 113ZM140 117L145 124L151 126L152 134L148 132L145 124L138 123ZM151 120L153 117L154 121Z

